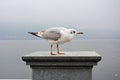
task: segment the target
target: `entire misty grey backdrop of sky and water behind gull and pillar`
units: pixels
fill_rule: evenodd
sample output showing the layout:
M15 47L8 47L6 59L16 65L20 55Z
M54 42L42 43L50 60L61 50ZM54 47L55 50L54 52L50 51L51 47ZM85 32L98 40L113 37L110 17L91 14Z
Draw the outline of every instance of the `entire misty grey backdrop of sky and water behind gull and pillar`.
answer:
M60 49L96 51L93 80L120 80L120 0L0 0L0 79L31 78L21 57L49 44L27 32L50 27L84 32Z

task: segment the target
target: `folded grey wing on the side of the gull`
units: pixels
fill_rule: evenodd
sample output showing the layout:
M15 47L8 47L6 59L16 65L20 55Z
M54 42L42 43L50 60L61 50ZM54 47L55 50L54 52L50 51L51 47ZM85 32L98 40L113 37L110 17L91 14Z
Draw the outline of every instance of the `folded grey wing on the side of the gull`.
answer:
M42 37L48 40L58 40L61 37L60 30L52 29L43 32Z

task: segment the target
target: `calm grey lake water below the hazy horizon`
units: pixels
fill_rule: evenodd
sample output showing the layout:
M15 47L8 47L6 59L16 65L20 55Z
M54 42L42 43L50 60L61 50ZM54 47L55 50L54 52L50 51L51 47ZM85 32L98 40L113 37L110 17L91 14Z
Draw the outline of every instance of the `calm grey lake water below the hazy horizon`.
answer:
M120 80L120 39L73 40L60 49L96 51L102 60L93 68L93 80ZM49 44L44 40L0 40L0 79L30 79L31 69L21 56L36 51L49 51Z

